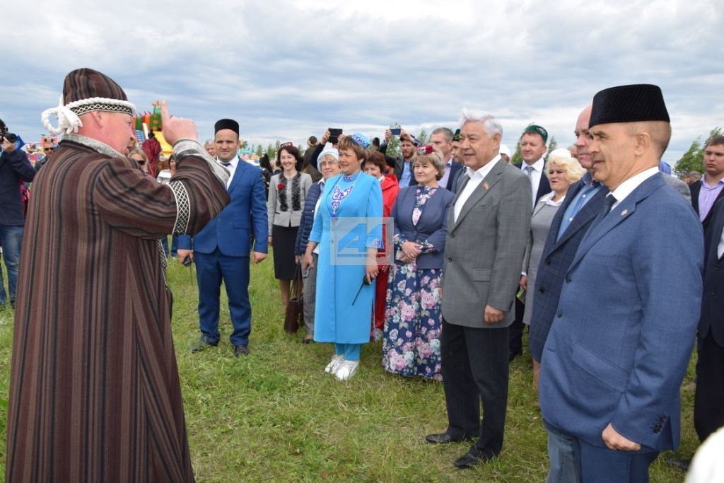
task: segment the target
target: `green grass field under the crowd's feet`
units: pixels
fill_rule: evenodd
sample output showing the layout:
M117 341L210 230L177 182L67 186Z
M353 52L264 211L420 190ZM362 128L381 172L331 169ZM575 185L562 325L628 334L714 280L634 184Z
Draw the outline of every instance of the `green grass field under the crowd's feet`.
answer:
M447 426L442 384L405 379L382 369L381 343L367 344L358 374L338 382L324 374L328 344L303 345L282 331L279 285L271 259L252 267L251 355L234 358L222 295L222 343L201 353L197 292L189 269L171 263L174 342L184 395L191 458L198 482L542 482L546 434L531 388L529 353L510 367L508 420L500 458L472 470L452 466L467 443L433 446L424 435ZM7 398L12 310L0 311L0 398ZM691 422L693 364L683 395L680 455L698 445ZM1 401L0 401L1 403ZM4 474L7 406L0 404L0 465ZM683 474L654 463L652 482Z

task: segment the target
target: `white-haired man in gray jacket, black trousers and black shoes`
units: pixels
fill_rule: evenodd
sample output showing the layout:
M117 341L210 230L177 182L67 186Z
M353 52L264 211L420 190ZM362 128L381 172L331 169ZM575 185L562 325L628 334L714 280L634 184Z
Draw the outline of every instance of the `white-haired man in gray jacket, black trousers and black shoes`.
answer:
M508 404L508 327L531 219L531 184L500 157L502 127L463 109L460 177L447 213L442 270L442 379L447 430L431 443L479 439L453 464L470 468L502 449ZM480 423L480 400L483 421Z

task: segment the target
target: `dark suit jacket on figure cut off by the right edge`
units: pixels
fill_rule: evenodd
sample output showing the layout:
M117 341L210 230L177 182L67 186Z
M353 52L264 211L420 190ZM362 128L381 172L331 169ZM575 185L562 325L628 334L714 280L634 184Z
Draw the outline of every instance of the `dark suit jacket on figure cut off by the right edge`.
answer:
M716 343L724 347L724 256L717 256L724 230L724 199L717 201L710 213L710 229L704 244L707 260L704 264L704 296L699 337L706 337L711 329Z

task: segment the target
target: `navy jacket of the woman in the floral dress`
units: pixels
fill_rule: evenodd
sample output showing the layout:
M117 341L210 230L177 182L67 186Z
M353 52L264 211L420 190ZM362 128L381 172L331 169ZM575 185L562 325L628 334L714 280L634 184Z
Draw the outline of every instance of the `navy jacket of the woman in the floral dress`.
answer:
M395 235L401 234L405 240L411 242L429 241L436 251L418 255L417 266L420 269L442 269L447 210L455 195L442 186L438 188L425 203L425 209L415 225L412 222L412 211L415 208L416 193L417 186L408 186L397 194L397 200L390 211L390 217L395 220ZM402 262L395 259L395 264L402 265Z

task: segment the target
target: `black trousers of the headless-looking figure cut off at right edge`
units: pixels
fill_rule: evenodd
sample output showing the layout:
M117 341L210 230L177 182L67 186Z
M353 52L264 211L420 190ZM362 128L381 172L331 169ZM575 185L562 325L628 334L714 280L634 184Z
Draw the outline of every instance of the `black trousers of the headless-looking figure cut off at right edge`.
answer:
M699 373L694 393L694 429L700 441L724 426L724 347L712 331L699 337Z

